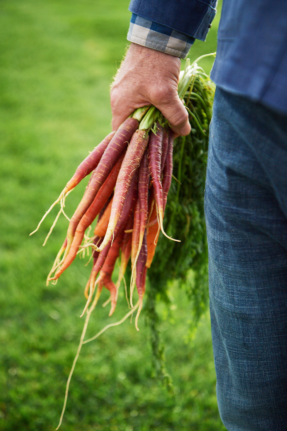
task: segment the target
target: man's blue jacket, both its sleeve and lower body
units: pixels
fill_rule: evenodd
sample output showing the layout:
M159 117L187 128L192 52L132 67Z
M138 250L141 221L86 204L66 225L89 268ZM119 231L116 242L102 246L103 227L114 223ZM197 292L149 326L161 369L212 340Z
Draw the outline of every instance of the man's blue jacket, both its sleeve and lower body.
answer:
M215 8L216 0L132 0L129 9L204 40ZM287 0L223 0L211 78L226 91L287 113Z

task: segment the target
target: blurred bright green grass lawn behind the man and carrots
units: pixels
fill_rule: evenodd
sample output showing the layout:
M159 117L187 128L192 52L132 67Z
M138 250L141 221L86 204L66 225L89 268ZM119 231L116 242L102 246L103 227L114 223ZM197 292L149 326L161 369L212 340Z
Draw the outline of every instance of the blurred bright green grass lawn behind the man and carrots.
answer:
M0 3L0 430L55 429L82 331L89 269L77 260L58 284L46 275L64 238L54 212L29 237L89 150L110 131L109 85L127 45L128 1L2 0ZM191 59L216 50L218 19ZM209 72L211 59L202 66ZM67 199L72 214L85 184ZM184 292L159 306L174 393L153 377L149 330L124 322L83 346L62 429L224 430L215 394L210 321L197 331ZM108 298L103 292L102 302ZM87 337L127 312L99 306Z

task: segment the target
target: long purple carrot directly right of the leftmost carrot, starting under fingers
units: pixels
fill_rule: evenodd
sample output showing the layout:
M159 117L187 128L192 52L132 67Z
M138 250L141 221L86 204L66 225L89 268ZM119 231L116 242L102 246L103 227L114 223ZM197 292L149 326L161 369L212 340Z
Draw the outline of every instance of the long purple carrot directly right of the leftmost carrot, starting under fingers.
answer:
M67 231L67 248L69 248L71 245L74 233L76 231L78 223L80 222L80 219L93 202L97 192L99 191L103 182L111 172L111 169L113 168L123 151L127 148L127 145L138 125L139 122L136 119L128 118L123 122L122 125L120 125L120 127L114 134L114 137L111 139L110 144L106 148L98 166L93 172L93 178L89 184L89 187L86 188L83 198L71 218Z

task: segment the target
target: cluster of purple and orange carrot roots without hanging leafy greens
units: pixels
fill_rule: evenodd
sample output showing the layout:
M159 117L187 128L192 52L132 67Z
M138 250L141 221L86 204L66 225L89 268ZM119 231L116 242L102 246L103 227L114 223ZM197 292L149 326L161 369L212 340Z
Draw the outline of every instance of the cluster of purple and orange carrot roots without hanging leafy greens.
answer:
M95 292L93 301L96 304L103 287L111 295L109 315L114 312L120 281L131 258L130 305L133 307L136 286L139 295L138 330L146 271L154 256L159 232L164 232L164 209L172 170L173 132L153 106L137 109L80 163L59 198L46 212L45 216L59 202L62 202L63 210L67 194L92 172L47 278L47 283L56 281L71 265L81 247L93 249L93 268L84 291L87 301L82 315ZM96 217L94 235L82 246L85 231ZM112 273L119 256L120 274L115 284Z

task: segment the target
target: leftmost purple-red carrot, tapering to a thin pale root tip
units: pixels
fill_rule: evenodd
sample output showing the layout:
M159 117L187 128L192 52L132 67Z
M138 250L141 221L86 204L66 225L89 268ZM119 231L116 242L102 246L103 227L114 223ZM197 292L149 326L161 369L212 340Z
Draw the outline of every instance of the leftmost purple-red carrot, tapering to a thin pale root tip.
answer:
M68 191L72 190L74 187L76 187L79 182L86 177L86 175L89 175L90 172L93 171L93 169L96 168L98 165L105 149L107 148L109 142L111 141L111 138L114 136L115 132L111 132L108 134L108 136L105 137L105 139L100 142L99 145L91 152L88 156L86 156L86 159L83 160L83 162L80 163L80 165L77 167L76 172L72 176L72 178L68 181L68 183L65 185L64 189L60 193L57 200L55 200L54 203L50 206L48 211L45 212L42 219L40 220L37 228L31 232L30 235L34 234L42 224L43 220L46 218L46 216L49 214L49 212L54 208L54 206L60 202L60 200L65 196L65 194L68 193Z

